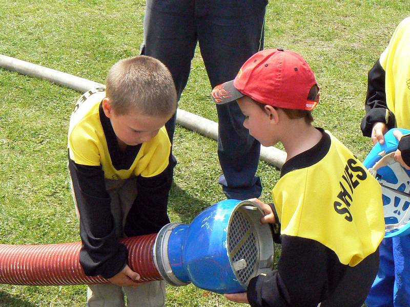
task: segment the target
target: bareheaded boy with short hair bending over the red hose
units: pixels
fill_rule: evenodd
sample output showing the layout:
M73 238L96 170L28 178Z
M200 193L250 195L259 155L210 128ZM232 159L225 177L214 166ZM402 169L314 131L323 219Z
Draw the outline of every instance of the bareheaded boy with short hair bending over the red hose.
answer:
M118 238L156 233L170 222L168 172L175 163L163 125L175 110L172 76L148 56L115 63L106 87L86 92L74 108L68 152L79 260L86 275L111 281L89 286L89 307L124 306L124 292L129 307L164 304L163 281L138 283Z

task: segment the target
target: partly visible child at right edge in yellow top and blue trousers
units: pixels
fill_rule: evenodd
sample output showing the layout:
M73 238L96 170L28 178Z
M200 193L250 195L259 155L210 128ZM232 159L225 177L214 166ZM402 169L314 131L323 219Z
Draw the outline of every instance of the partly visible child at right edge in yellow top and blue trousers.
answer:
M387 130L410 129L410 17L397 26L387 48L368 73L364 136L384 143ZM410 135L399 139L395 159L410 169ZM410 306L410 235L383 239L380 266L366 299L369 307Z

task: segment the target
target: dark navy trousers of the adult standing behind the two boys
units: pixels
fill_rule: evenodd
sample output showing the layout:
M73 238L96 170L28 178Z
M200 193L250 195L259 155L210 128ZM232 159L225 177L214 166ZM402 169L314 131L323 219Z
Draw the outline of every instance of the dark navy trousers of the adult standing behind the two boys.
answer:
M147 0L142 54L163 62L174 78L178 99L187 85L199 41L211 86L235 78L242 64L263 48L267 0ZM211 89L210 89L211 91ZM206 103L212 103L206 101ZM236 102L217 105L219 184L228 199L259 197L255 176L260 144L243 127ZM175 116L166 124L171 142Z

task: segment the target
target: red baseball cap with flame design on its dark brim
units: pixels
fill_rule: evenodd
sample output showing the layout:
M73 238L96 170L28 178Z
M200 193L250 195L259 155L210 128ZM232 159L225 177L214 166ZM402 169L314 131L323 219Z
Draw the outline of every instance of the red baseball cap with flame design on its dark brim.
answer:
M309 99L317 85L308 63L297 53L283 49L267 49L251 56L235 79L215 86L212 98L217 104L243 96L282 108L312 110L319 102Z

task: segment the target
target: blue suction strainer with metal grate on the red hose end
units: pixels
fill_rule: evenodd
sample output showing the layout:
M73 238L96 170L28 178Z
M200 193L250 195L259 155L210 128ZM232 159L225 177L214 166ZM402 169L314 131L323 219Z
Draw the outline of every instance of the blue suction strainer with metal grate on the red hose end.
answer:
M158 271L174 286L189 282L216 293L245 292L251 278L273 267L269 225L250 201L226 200L198 214L190 225L171 223L157 235Z

